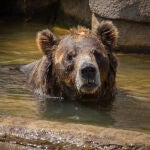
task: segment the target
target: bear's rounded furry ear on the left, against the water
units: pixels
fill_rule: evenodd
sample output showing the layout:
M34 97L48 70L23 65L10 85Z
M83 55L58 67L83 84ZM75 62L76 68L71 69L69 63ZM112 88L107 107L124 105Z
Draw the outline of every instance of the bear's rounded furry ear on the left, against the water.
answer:
M38 48L47 56L52 54L54 46L57 45L55 35L48 29L39 31L37 33L36 42Z

